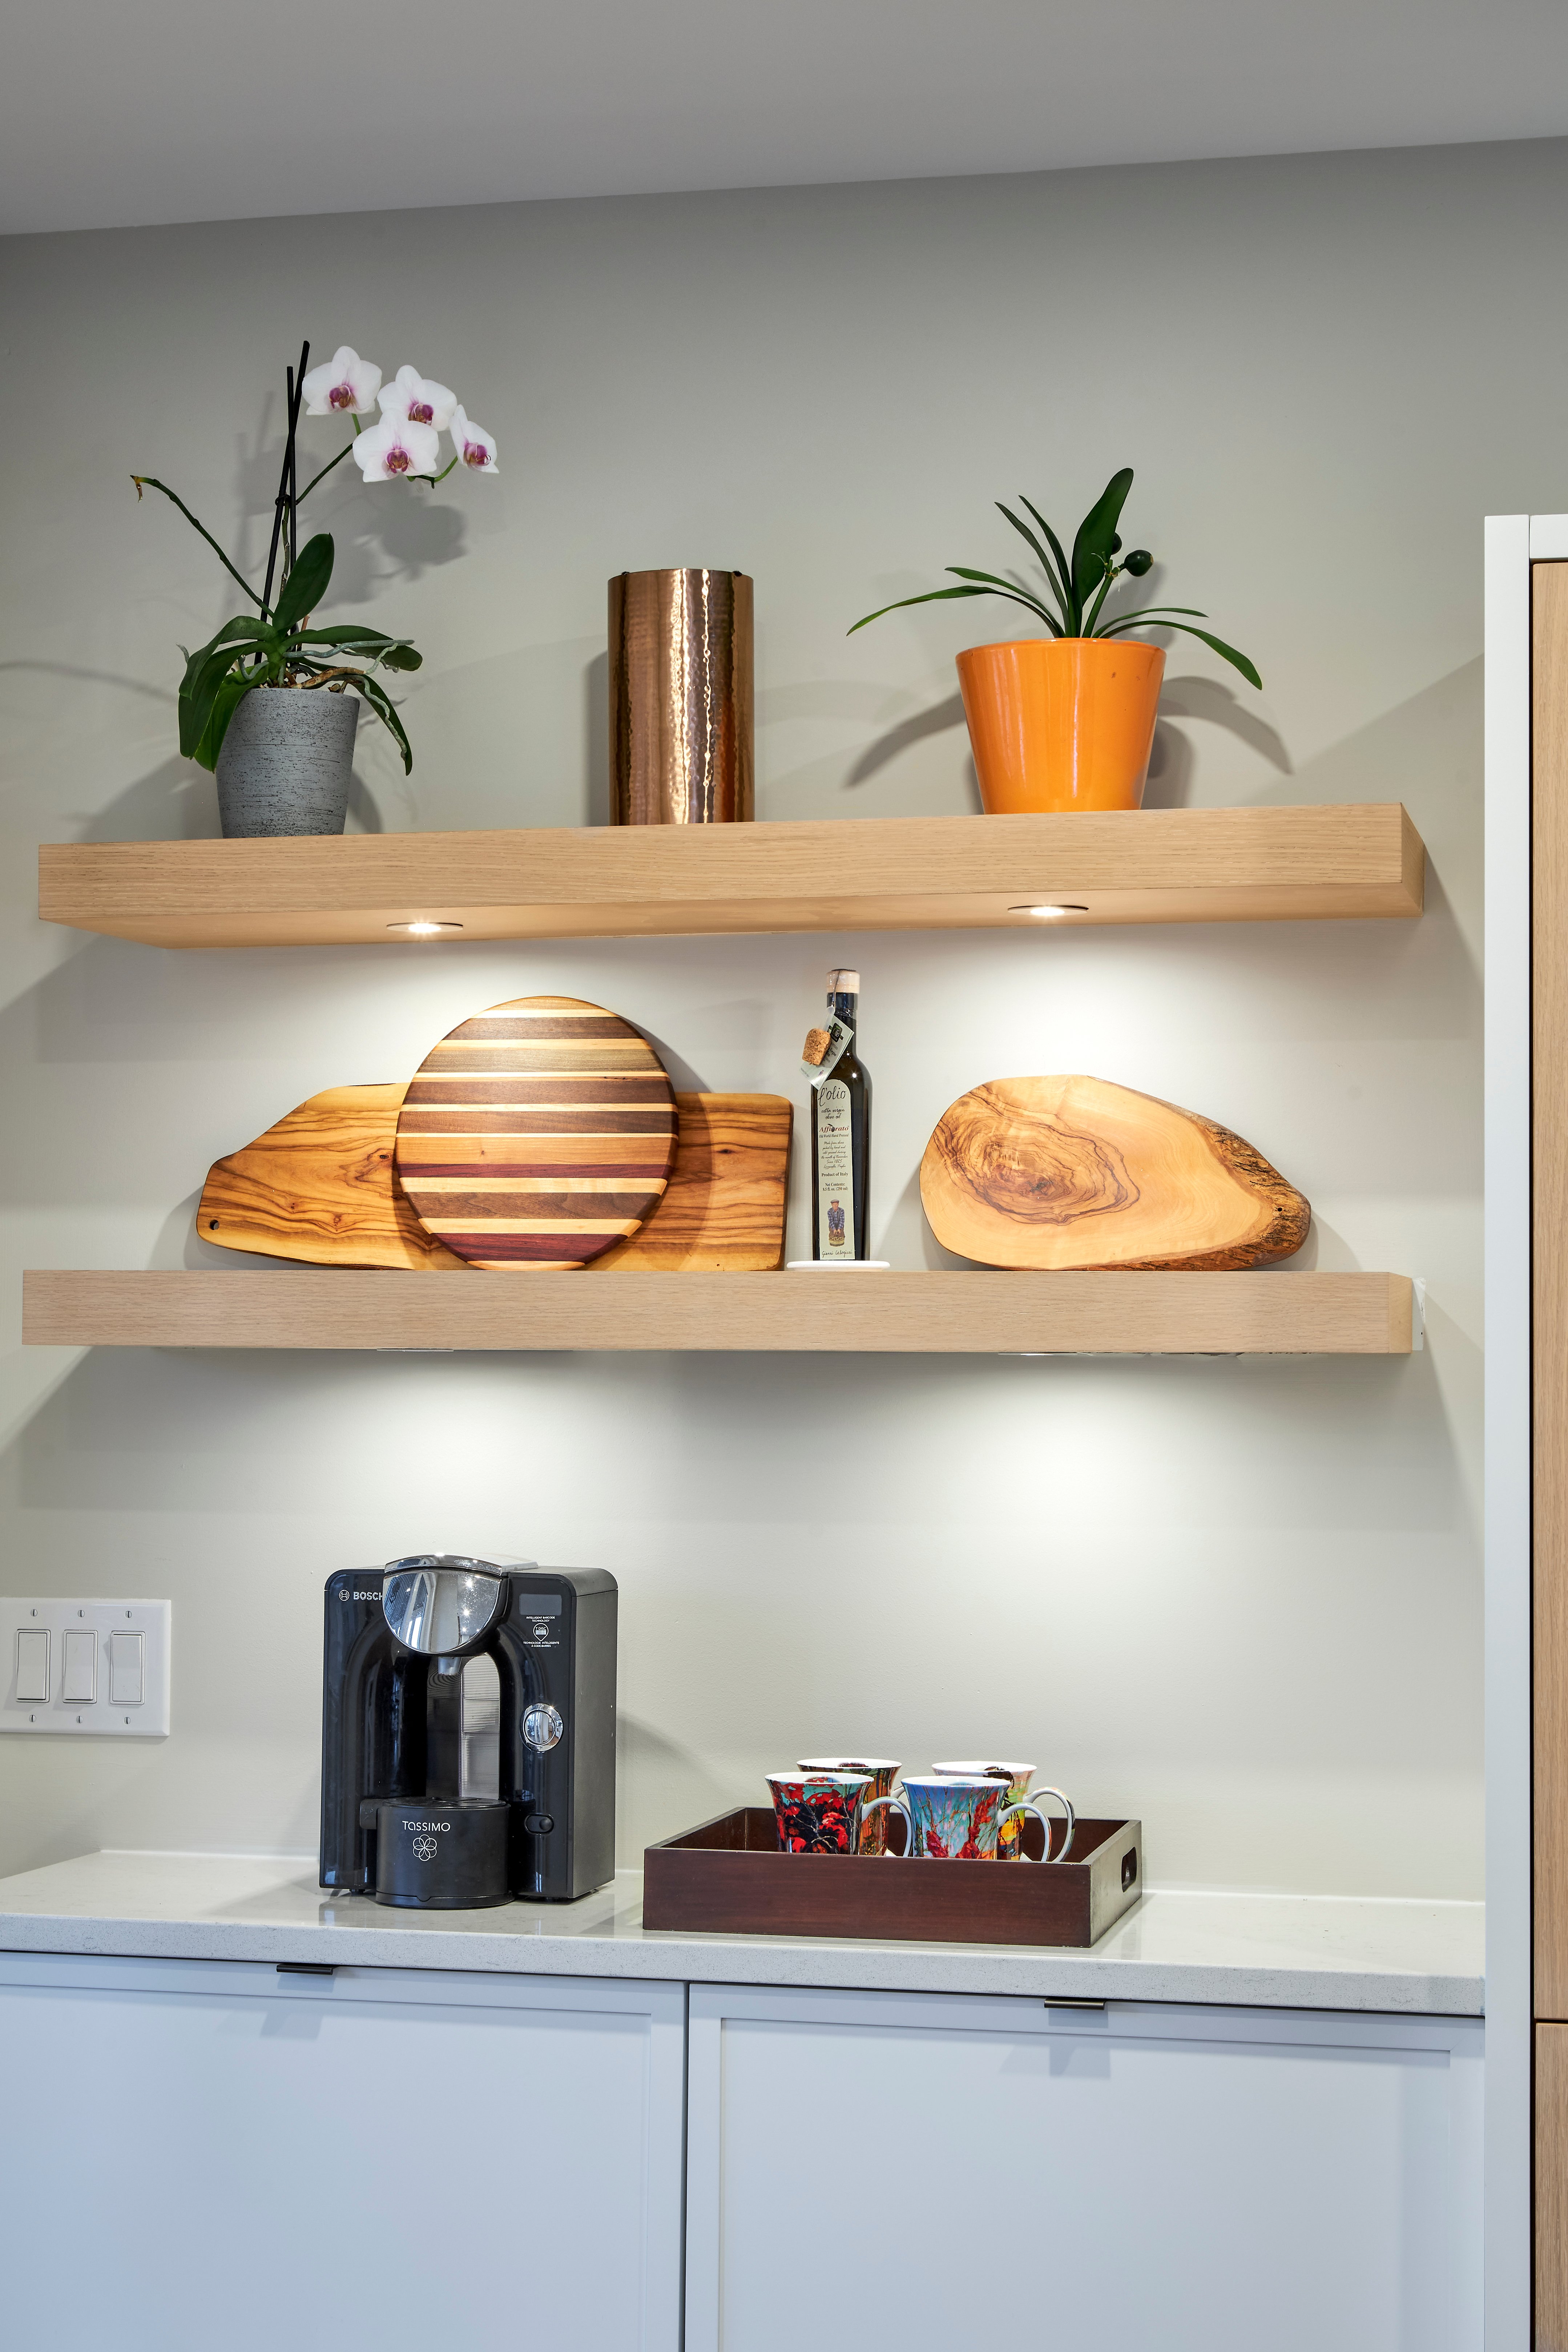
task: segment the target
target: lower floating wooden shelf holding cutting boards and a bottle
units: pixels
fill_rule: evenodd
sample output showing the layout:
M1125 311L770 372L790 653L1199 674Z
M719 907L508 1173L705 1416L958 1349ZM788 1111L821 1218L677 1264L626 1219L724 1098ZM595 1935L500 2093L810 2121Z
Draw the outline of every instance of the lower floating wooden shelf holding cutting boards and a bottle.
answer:
M1408 1355L1408 1275L78 1272L28 1348Z

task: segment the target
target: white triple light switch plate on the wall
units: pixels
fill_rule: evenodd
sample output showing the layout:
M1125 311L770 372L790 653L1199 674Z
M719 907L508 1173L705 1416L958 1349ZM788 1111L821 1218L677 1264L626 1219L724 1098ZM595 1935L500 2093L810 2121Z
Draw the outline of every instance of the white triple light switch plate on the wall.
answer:
M169 1736L169 1602L0 1599L0 1731Z

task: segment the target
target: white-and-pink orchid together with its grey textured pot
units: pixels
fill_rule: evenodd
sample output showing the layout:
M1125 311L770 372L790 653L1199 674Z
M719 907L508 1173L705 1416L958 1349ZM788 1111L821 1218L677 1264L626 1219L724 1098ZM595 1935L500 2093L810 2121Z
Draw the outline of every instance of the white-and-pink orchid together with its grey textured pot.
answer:
M136 496L160 489L179 506L256 607L226 621L193 654L181 644L179 748L186 760L216 769L226 835L341 833L360 701L390 729L404 771L414 767L409 736L378 675L421 666L411 640L388 637L362 621L310 626L336 553L329 532L299 546L299 510L310 492L350 452L367 482L444 482L454 466L498 473L494 435L468 421L444 383L400 367L383 386L381 369L348 343L324 367L306 372L308 358L306 343L299 369L287 369L287 437L261 590L167 482L150 473L132 475ZM371 405L381 409L381 421L367 428L362 419ZM353 426L350 440L303 489L296 447L301 407L306 416L341 416ZM442 433L451 435L451 456L437 473Z

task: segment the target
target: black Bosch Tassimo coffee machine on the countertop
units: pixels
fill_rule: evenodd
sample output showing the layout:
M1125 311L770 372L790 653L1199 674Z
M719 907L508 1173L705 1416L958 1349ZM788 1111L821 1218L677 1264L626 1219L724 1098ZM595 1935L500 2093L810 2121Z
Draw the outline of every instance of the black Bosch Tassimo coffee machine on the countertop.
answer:
M463 1792L494 1658L496 1795ZM616 1870L616 1578L425 1552L327 1578L322 1886L418 1910L569 1903Z

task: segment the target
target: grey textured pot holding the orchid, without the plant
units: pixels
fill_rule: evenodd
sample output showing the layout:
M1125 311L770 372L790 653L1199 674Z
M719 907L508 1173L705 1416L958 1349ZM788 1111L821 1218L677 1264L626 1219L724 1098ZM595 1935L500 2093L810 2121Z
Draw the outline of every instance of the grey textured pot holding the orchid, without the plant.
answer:
M256 687L219 753L219 821L228 840L341 833L355 760L357 694Z

